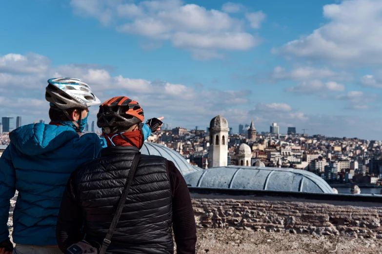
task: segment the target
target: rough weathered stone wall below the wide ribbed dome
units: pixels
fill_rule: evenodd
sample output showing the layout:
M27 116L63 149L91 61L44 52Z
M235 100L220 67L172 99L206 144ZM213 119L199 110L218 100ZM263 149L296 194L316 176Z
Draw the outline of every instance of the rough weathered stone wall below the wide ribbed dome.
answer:
M382 204L191 194L199 228L382 238Z

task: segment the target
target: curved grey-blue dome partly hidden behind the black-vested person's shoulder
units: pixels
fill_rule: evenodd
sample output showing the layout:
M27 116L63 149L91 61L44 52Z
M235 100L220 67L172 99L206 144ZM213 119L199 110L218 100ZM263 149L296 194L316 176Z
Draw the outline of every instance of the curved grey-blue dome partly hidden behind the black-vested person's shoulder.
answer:
M198 171L197 167L193 167L179 153L167 146L144 142L141 148L141 153L146 155L158 155L172 161L175 166L181 171L183 176Z

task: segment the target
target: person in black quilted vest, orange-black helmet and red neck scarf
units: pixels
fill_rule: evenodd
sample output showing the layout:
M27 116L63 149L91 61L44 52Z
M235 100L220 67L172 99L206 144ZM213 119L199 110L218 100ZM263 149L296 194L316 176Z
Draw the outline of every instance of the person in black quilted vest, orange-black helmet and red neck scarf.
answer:
M108 147L71 175L62 198L56 237L62 252L82 239L102 245L132 160L143 145L141 106L119 96L100 106L97 126ZM156 130L161 121L152 119ZM195 254L196 226L187 184L174 163L141 155L108 254Z

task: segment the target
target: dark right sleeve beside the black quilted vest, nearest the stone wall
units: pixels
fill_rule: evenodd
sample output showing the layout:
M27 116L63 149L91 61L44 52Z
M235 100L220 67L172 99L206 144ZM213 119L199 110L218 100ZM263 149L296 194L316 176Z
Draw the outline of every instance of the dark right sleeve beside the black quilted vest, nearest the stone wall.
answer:
M167 161L172 199L172 228L178 254L195 254L196 225L187 183L173 162Z

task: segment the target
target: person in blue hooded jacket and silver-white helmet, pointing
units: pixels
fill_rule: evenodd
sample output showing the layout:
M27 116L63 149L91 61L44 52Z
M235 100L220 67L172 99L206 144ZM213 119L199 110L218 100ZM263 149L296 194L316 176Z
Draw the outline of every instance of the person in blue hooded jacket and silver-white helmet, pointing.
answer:
M56 222L66 183L77 166L99 157L106 147L97 134L81 133L88 108L101 103L86 83L76 78L49 79L45 98L50 102L51 122L10 132L11 143L0 158L0 254L61 253ZM148 124L141 129L145 140L152 130ZM13 250L7 222L16 190Z

